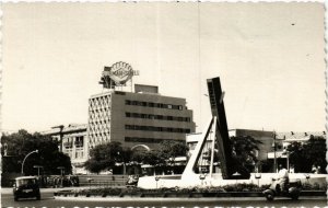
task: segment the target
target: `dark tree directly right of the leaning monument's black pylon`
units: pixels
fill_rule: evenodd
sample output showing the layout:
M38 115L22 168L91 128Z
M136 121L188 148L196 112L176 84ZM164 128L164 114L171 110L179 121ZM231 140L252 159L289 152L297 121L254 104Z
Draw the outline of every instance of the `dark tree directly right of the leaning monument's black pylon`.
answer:
M256 140L250 136L231 137L233 147L233 159L236 164L239 163L246 167L248 172L253 172L255 164L258 162L255 152L259 150L258 145L261 141Z

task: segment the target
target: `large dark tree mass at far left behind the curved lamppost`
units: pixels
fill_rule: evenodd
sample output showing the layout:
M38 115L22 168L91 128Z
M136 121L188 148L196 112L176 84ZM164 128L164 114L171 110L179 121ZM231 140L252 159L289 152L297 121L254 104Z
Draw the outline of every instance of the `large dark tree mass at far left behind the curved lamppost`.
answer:
M58 174L58 166L63 166L66 173L72 171L70 158L59 152L58 141L52 140L50 136L19 130L11 135L3 135L1 145L3 173L20 173L24 158L34 150L38 150L38 153L31 154L24 163L26 175L37 174L34 165L42 165L46 174Z

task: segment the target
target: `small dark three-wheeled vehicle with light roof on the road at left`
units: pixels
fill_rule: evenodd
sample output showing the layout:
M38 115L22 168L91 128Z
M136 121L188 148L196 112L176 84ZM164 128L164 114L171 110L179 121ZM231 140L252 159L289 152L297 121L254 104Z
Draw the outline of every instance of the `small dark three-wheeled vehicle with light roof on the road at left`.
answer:
M37 177L23 176L16 177L13 185L14 200L20 198L36 198L40 199L39 186Z

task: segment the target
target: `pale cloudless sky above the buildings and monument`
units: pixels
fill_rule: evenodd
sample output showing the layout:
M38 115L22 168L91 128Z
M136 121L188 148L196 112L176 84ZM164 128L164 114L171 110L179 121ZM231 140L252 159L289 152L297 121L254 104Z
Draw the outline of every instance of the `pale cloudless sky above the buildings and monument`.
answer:
M104 66L185 97L197 131L220 77L230 129L325 130L324 4L4 3L1 127L86 124Z

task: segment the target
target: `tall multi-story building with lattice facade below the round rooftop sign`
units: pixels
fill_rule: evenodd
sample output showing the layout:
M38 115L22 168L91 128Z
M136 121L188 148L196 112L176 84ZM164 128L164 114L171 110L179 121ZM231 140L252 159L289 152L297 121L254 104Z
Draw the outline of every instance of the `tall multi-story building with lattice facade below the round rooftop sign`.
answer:
M156 149L164 140L183 141L195 131L186 100L163 96L156 86L136 93L109 90L89 100L89 148L109 141L124 147Z

